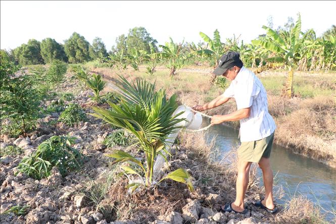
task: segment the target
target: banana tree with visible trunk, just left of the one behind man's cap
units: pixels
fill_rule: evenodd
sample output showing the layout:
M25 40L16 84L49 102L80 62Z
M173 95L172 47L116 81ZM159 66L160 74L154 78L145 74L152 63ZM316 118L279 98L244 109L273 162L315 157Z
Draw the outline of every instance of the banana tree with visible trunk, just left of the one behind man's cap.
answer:
M167 68L170 69L169 75L173 77L173 75L176 75L176 70L184 66L184 60L181 54L184 40L182 43L177 44L174 43L171 37L169 37L169 39L170 42L166 42L165 45L159 45L159 47L163 50L160 54L168 60Z

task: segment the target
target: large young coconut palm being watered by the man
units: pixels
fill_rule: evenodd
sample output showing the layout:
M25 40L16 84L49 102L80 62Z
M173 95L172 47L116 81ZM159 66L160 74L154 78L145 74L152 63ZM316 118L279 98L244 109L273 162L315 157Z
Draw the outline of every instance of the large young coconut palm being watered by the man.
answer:
M116 159L114 163L128 161L132 165L121 167L125 174L136 174L141 178L145 175L143 183L129 184L129 188L133 191L139 186L149 188L154 184L154 162L158 155L163 156L167 161L165 157L165 154L169 154L165 149L167 137L180 128L177 124L183 120L176 118L180 114L173 116L178 106L176 95L167 100L165 90L160 89L155 92L155 84L139 78L135 83L130 84L124 77L119 76L117 86L120 88L120 91L116 92L121 99L120 106L108 102L111 106L110 110L93 107L95 113L92 115L121 127L136 137L137 145L145 153L144 164L121 150L114 150L109 156ZM134 166L137 168L133 168ZM191 184L193 177L184 169L168 173L161 181L166 178L185 183L190 191L194 190Z

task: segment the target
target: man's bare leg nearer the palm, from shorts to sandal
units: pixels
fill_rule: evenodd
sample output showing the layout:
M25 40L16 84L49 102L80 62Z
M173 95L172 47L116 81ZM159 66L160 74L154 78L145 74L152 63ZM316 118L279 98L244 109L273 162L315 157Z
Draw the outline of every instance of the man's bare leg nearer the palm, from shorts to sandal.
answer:
M236 180L236 196L232 203L232 208L235 211L244 211L245 192L249 184L250 167L252 162L238 160L238 175Z

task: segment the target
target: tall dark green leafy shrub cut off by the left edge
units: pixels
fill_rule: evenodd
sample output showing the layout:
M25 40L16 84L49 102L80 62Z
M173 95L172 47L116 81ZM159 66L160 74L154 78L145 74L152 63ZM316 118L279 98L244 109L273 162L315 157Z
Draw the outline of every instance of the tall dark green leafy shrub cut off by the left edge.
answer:
M15 76L19 67L1 55L0 115L11 126L2 125L1 132L12 137L24 135L36 124L40 112L40 95L30 76ZM5 126L5 127L4 127ZM9 132L8 132L9 131Z

